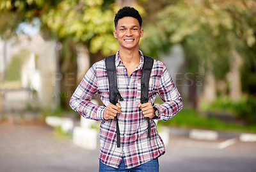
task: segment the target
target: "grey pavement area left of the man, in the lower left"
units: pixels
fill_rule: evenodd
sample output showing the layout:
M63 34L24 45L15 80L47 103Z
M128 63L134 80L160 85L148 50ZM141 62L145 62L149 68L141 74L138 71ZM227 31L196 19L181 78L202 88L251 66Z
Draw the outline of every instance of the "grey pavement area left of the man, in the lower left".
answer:
M95 171L99 150L85 150L72 139L54 136L47 125L0 124L0 171Z

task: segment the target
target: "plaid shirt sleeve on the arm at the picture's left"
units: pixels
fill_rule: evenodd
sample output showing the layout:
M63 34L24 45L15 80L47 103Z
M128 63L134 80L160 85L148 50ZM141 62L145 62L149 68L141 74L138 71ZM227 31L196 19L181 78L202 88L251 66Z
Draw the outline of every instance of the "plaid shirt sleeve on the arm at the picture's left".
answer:
M77 86L70 98L70 107L84 118L91 120L104 120L103 113L106 107L98 106L90 102L98 93L96 63L84 75L83 80Z

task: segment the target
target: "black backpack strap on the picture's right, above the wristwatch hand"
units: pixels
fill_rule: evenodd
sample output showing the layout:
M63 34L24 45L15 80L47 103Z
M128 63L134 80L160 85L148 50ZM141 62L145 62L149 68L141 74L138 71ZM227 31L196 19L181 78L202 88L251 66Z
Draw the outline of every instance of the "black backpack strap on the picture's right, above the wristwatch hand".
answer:
M145 104L148 102L148 84L149 84L150 74L151 74L153 65L154 65L154 59L148 56L144 56L144 63L141 70L141 97L140 97L141 104ZM148 123L148 137L151 137L151 133L150 133L151 125L150 125L149 118L147 118L147 123Z

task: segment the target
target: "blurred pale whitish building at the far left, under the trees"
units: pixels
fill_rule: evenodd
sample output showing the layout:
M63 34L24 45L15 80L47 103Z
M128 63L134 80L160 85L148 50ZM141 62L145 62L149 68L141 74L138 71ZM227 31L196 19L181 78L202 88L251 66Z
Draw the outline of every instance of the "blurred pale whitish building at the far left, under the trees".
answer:
M55 92L59 89L55 81L56 42L45 41L39 33L31 38L19 35L17 41L19 43L0 40L0 110L26 108L27 103L33 104L29 101L35 100L35 94L40 106L56 107L58 97L53 96L58 95ZM4 74L13 56L22 59L18 82L6 81ZM15 101L18 101L20 107L13 106Z

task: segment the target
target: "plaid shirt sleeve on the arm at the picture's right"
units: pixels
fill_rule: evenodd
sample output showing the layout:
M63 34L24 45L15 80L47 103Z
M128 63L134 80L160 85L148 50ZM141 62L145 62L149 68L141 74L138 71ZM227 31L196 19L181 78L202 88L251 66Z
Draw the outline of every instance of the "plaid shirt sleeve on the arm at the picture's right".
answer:
M164 101L163 104L156 106L159 111L157 120L170 120L182 109L183 103L180 93L173 82L172 76L165 65L159 80L159 89L157 93Z

